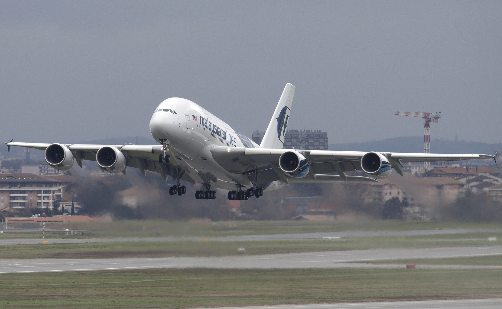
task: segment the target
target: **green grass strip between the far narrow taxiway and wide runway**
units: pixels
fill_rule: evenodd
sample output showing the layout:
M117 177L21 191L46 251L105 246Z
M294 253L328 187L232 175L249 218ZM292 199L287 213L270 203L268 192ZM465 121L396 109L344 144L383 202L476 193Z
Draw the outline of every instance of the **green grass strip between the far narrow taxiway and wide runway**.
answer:
M446 235L445 235L446 236ZM502 238L502 237L501 237ZM486 238L485 238L486 239ZM500 245L500 241L430 240L399 237L357 237L336 240L294 239L266 241L171 241L171 242L91 242L67 244L2 245L0 258L117 258L168 256L225 256L244 254L277 254L314 251L337 251L376 248L431 248L452 246Z

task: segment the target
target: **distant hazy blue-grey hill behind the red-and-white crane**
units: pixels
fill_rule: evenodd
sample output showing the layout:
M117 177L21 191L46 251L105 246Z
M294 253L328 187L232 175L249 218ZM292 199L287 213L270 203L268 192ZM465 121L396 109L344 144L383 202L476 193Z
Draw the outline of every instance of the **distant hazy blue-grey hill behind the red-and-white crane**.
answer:
M381 141L330 144L329 150L348 151L389 151L389 152L424 152L422 136L393 137ZM481 142L451 141L434 139L431 141L431 153L476 153L493 155L493 151L502 150L502 143L488 144Z

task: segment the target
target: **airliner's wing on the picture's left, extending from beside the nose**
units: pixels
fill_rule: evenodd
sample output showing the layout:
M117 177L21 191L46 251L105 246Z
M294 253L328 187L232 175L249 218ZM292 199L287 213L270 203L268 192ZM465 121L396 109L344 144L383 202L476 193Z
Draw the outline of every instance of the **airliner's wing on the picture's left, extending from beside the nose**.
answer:
M19 146L25 148L35 148L40 150L45 150L52 144L43 143L22 143L22 142L7 142L9 150L11 146ZM175 168L183 168L176 156L167 151L167 154L171 156L171 161L169 163L160 163L159 155L164 154L161 145L92 145L92 144L63 144L72 152L75 157L77 164L82 167L82 160L96 161L96 152L104 146L115 147L119 149L124 157L126 157L126 163L128 167L135 167L140 169L143 175L146 175L147 171L160 173L164 180L167 180L168 176L173 176ZM181 179L195 183L195 181L188 175L188 173L183 173Z

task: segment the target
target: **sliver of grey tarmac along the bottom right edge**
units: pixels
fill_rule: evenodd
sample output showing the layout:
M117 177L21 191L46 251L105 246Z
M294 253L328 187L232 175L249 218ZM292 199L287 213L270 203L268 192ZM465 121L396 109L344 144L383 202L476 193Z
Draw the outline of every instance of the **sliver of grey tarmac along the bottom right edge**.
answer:
M225 307L225 309L498 309L502 308L502 299L453 299L453 300L420 300L420 301L386 301L386 302L347 302L324 304L293 304L278 306ZM202 308L204 309L204 308ZM205 308L216 309L216 308Z

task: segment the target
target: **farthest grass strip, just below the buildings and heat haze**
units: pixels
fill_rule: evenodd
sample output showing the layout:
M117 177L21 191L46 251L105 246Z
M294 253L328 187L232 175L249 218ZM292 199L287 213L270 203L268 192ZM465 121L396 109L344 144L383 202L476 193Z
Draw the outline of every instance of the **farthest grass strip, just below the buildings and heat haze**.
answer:
M62 229L62 222L50 222L47 228ZM167 220L115 220L112 222L66 222L68 229L86 230L83 237L156 237L156 236L227 236L253 234L284 234L310 232L339 232L345 230L414 230L435 228L502 228L497 223L460 223L437 221L395 221L367 220L350 218L334 221L167 221ZM30 233L7 232L0 234L0 239L41 238L42 230ZM58 238L60 235L46 233L46 238Z

